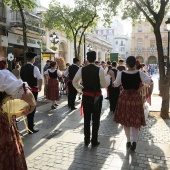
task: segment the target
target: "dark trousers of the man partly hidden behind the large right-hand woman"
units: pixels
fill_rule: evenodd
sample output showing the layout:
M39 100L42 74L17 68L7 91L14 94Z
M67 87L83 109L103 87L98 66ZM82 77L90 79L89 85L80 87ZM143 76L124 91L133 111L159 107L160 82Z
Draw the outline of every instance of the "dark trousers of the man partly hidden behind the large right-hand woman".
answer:
M117 101L120 95L120 88L119 87L110 87L108 88L109 91L109 102L110 102L110 111L115 112Z

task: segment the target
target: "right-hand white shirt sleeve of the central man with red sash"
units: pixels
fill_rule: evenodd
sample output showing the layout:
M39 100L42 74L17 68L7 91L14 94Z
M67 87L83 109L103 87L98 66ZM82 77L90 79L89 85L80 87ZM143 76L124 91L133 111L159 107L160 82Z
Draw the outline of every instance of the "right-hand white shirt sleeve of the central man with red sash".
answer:
M103 68L100 68L99 70L99 78L100 78L100 86L102 88L109 86L110 76L105 74L105 71Z

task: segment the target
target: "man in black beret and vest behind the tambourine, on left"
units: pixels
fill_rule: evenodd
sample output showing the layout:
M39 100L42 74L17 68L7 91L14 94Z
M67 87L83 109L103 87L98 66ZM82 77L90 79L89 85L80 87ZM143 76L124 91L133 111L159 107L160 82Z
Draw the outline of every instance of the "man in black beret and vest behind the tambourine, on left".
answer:
M35 100L37 101L38 92L41 91L43 81L38 67L33 65L36 56L37 54L34 52L26 53L27 63L21 67L20 76L21 79L27 82L28 85L31 87L31 91L34 95ZM27 116L28 129L29 129L28 134L36 133L39 131L38 129L34 129L35 112L36 112L36 108L32 113L30 113Z

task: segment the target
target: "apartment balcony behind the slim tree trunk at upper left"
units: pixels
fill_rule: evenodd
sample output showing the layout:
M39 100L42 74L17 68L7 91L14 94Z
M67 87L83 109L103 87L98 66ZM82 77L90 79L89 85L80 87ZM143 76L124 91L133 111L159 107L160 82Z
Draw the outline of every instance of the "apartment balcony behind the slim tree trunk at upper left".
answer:
M28 33L34 33L38 35L45 34L45 30L41 27L41 18L28 12L24 12L24 15ZM19 12L11 11L10 27L12 30L22 29L22 19Z

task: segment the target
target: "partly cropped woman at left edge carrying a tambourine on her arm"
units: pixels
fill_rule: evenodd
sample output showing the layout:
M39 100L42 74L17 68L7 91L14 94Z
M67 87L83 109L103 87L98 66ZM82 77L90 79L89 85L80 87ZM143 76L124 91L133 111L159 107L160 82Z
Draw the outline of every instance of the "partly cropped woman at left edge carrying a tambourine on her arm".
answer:
M0 63L0 103L4 96L22 99L30 105L30 110L35 109L35 100L28 85L21 79L17 79L11 72L4 69ZM5 94L5 95L4 95ZM0 170L27 170L23 147L15 125L15 119L9 117L8 113L2 111L0 104Z

